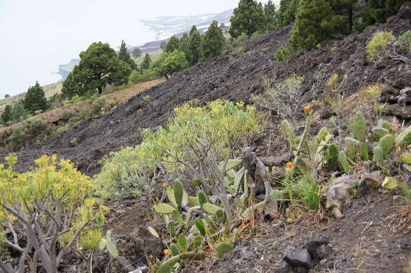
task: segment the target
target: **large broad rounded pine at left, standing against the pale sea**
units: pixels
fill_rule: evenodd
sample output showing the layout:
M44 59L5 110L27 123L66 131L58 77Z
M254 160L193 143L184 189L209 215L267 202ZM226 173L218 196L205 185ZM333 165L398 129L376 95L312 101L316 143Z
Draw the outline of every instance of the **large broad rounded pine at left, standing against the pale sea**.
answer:
M92 43L86 51L80 53L80 58L77 73L73 76L86 91L97 88L101 94L105 84L127 82L132 73L129 65L117 58L116 51L108 43Z

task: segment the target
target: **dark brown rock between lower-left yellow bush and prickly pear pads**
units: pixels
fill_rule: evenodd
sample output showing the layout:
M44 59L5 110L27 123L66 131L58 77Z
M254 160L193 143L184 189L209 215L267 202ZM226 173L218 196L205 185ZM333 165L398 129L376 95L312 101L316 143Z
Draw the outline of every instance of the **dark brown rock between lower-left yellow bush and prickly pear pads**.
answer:
M145 226L140 226L134 233L132 233L134 239L134 251L136 254L136 265L142 267L147 265L147 258L161 258L164 256L164 245L162 240L158 237L154 237L149 229ZM134 270L134 268L133 268ZM131 271L131 270L130 270Z

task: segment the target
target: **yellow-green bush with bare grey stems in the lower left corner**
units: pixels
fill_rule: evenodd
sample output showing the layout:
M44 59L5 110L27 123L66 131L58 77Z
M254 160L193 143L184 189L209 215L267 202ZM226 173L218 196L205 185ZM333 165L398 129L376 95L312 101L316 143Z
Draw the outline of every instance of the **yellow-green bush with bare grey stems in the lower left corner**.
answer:
M62 257L85 245L88 234L103 224L108 208L92 198L97 185L70 161L42 156L35 161L35 169L17 174L13 171L16 156L5 159L8 169L0 165L0 232L4 235L3 226L8 225L13 227L8 229L12 238L23 239L1 236L0 246L21 249L20 272L26 261L36 272L38 260L46 272L58 272ZM89 247L97 248L99 241ZM38 259L31 259L32 254Z

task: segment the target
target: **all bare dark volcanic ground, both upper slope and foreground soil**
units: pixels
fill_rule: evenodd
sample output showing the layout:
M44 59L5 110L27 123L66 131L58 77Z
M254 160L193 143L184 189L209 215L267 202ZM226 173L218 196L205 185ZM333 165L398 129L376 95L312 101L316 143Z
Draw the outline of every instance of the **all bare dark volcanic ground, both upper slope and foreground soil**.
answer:
M286 62L275 60L275 50L286 43L290 26L262 36L245 44L239 54L225 53L208 62L197 64L177 73L166 82L149 88L129 102L110 110L105 115L83 121L62 134L56 134L43 143L20 150L18 171L25 171L33 160L42 154L58 154L69 158L77 168L90 176L101 169L101 159L121 147L133 146L142 139L142 128L164 125L171 117L175 106L191 99L208 102L217 98L249 102L251 93L262 91L262 76L284 80L291 73L303 75L306 90L323 79L319 88L308 98L322 99L327 92L324 79L332 73L347 75L341 87L347 95L358 92L362 86L384 83L386 88L380 98L390 103L388 114L404 119L411 117L407 99L398 101L397 95L411 86L411 69L399 70L399 63L386 60L375 64L366 59L366 43L378 30L400 34L411 28L411 12L388 19L388 23L369 27L362 33L354 33L342 40L333 40L329 45L314 51L299 51ZM320 75L320 78L314 77ZM397 95L396 95L397 94ZM410 99L411 102L411 99ZM403 106L405 105L405 106ZM319 112L322 109L317 109ZM323 116L327 119L327 115ZM313 127L316 128L315 123ZM273 131L275 136L279 132ZM71 143L71 139L77 143ZM258 151L266 153L264 136L256 141ZM282 149L281 141L273 141L271 153ZM6 154L0 154L0 162ZM345 207L345 217L336 220L325 215L322 221L311 213L302 215L296 222L286 223L279 219L273 222L258 220L257 236L240 240L232 252L222 259L210 257L203 263L195 263L179 272L292 272L282 261L286 247L301 250L310 241L321 241L313 271L318 272L401 272L401 264L410 256L410 227L397 230L400 214L405 213L395 205L401 204L394 196L397 193L375 191ZM116 235L122 255L135 262L134 244L129 238L139 226L150 221L150 207L145 202L129 200L114 204L108 216L108 226ZM409 214L409 212L408 212ZM408 229L407 229L408 228ZM323 244L323 246L321 246ZM320 247L321 246L321 247ZM310 249L310 248L309 248ZM105 272L108 254L96 253L93 272ZM78 263L78 265L76 265ZM65 270L81 271L81 260L72 257ZM304 272L303 270L300 270ZM114 272L114 271L113 271Z

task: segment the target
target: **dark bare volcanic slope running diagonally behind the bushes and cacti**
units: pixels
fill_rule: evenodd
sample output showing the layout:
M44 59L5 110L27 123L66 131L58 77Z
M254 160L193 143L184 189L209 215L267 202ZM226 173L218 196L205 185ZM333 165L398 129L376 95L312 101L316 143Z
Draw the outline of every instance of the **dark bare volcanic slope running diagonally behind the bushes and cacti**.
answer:
M240 53L225 51L208 62L176 73L171 80L149 88L101 117L87 119L66 132L18 151L16 169L25 171L42 154L56 153L60 158L71 159L79 171L92 176L100 171L103 156L140 143L140 129L164 125L175 106L191 99L199 99L201 103L219 98L249 102L251 93L262 91L263 75L281 81L297 73L306 79L304 86L307 90L316 81L314 75L322 75L325 80L333 73L347 75L349 80L342 86L347 94L375 82L389 84L406 79L402 84L410 84L410 69L399 71L395 61L374 64L366 59L365 47L375 32L388 30L398 35L410 29L410 24L404 23L399 16L388 19L388 22L353 33L343 40L333 40L321 49L299 51L282 63L275 60L275 51L286 43L291 25L277 29L245 43ZM325 80L308 99L323 96ZM4 162L5 156L0 154L0 163Z

